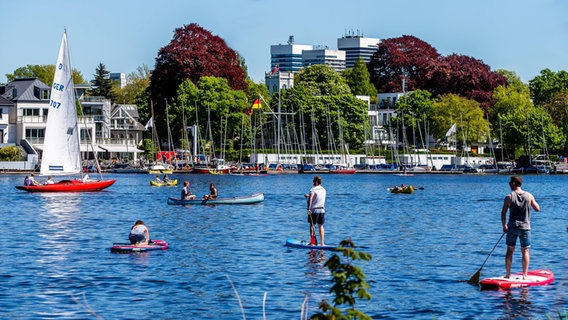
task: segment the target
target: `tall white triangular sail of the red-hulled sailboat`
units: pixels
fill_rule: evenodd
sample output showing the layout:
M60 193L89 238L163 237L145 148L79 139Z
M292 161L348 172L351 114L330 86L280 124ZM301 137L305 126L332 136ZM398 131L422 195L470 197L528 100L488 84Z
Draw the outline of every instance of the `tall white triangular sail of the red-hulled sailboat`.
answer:
M55 64L40 174L80 173L81 152L79 147L75 87L65 32Z

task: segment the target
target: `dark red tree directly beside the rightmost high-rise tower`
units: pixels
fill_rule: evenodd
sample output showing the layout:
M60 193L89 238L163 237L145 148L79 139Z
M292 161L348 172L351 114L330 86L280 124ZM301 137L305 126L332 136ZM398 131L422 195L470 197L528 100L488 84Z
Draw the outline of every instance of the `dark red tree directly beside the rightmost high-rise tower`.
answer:
M404 78L406 91L411 91L424 89L430 65L437 63L439 57L428 43L405 35L382 40L367 68L371 83L379 92L402 92Z

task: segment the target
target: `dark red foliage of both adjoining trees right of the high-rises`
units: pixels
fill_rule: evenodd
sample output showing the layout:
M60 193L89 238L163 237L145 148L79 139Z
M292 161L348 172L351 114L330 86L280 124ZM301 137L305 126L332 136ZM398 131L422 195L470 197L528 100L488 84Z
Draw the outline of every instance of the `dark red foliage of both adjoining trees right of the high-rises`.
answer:
M385 39L368 64L371 82L379 92L428 90L434 97L457 94L474 99L488 111L493 90L506 78L481 60L452 54L442 57L428 43L413 37Z

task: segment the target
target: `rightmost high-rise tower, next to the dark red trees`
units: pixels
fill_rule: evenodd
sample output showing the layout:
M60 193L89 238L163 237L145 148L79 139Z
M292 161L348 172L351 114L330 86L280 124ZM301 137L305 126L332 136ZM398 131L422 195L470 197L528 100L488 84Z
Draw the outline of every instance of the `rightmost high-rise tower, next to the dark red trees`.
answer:
M345 68L353 68L358 57L365 63L371 61L381 42L378 38L365 38L363 35L346 35L337 39L337 49L345 51Z

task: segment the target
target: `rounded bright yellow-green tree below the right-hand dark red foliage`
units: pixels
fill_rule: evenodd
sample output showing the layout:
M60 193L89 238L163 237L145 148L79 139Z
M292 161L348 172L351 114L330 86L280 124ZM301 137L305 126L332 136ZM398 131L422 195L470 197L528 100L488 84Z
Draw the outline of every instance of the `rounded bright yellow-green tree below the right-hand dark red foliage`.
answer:
M457 141L470 145L472 142L485 141L487 120L483 116L479 102L447 94L436 99L433 106L432 127L434 137L443 137L456 123Z

